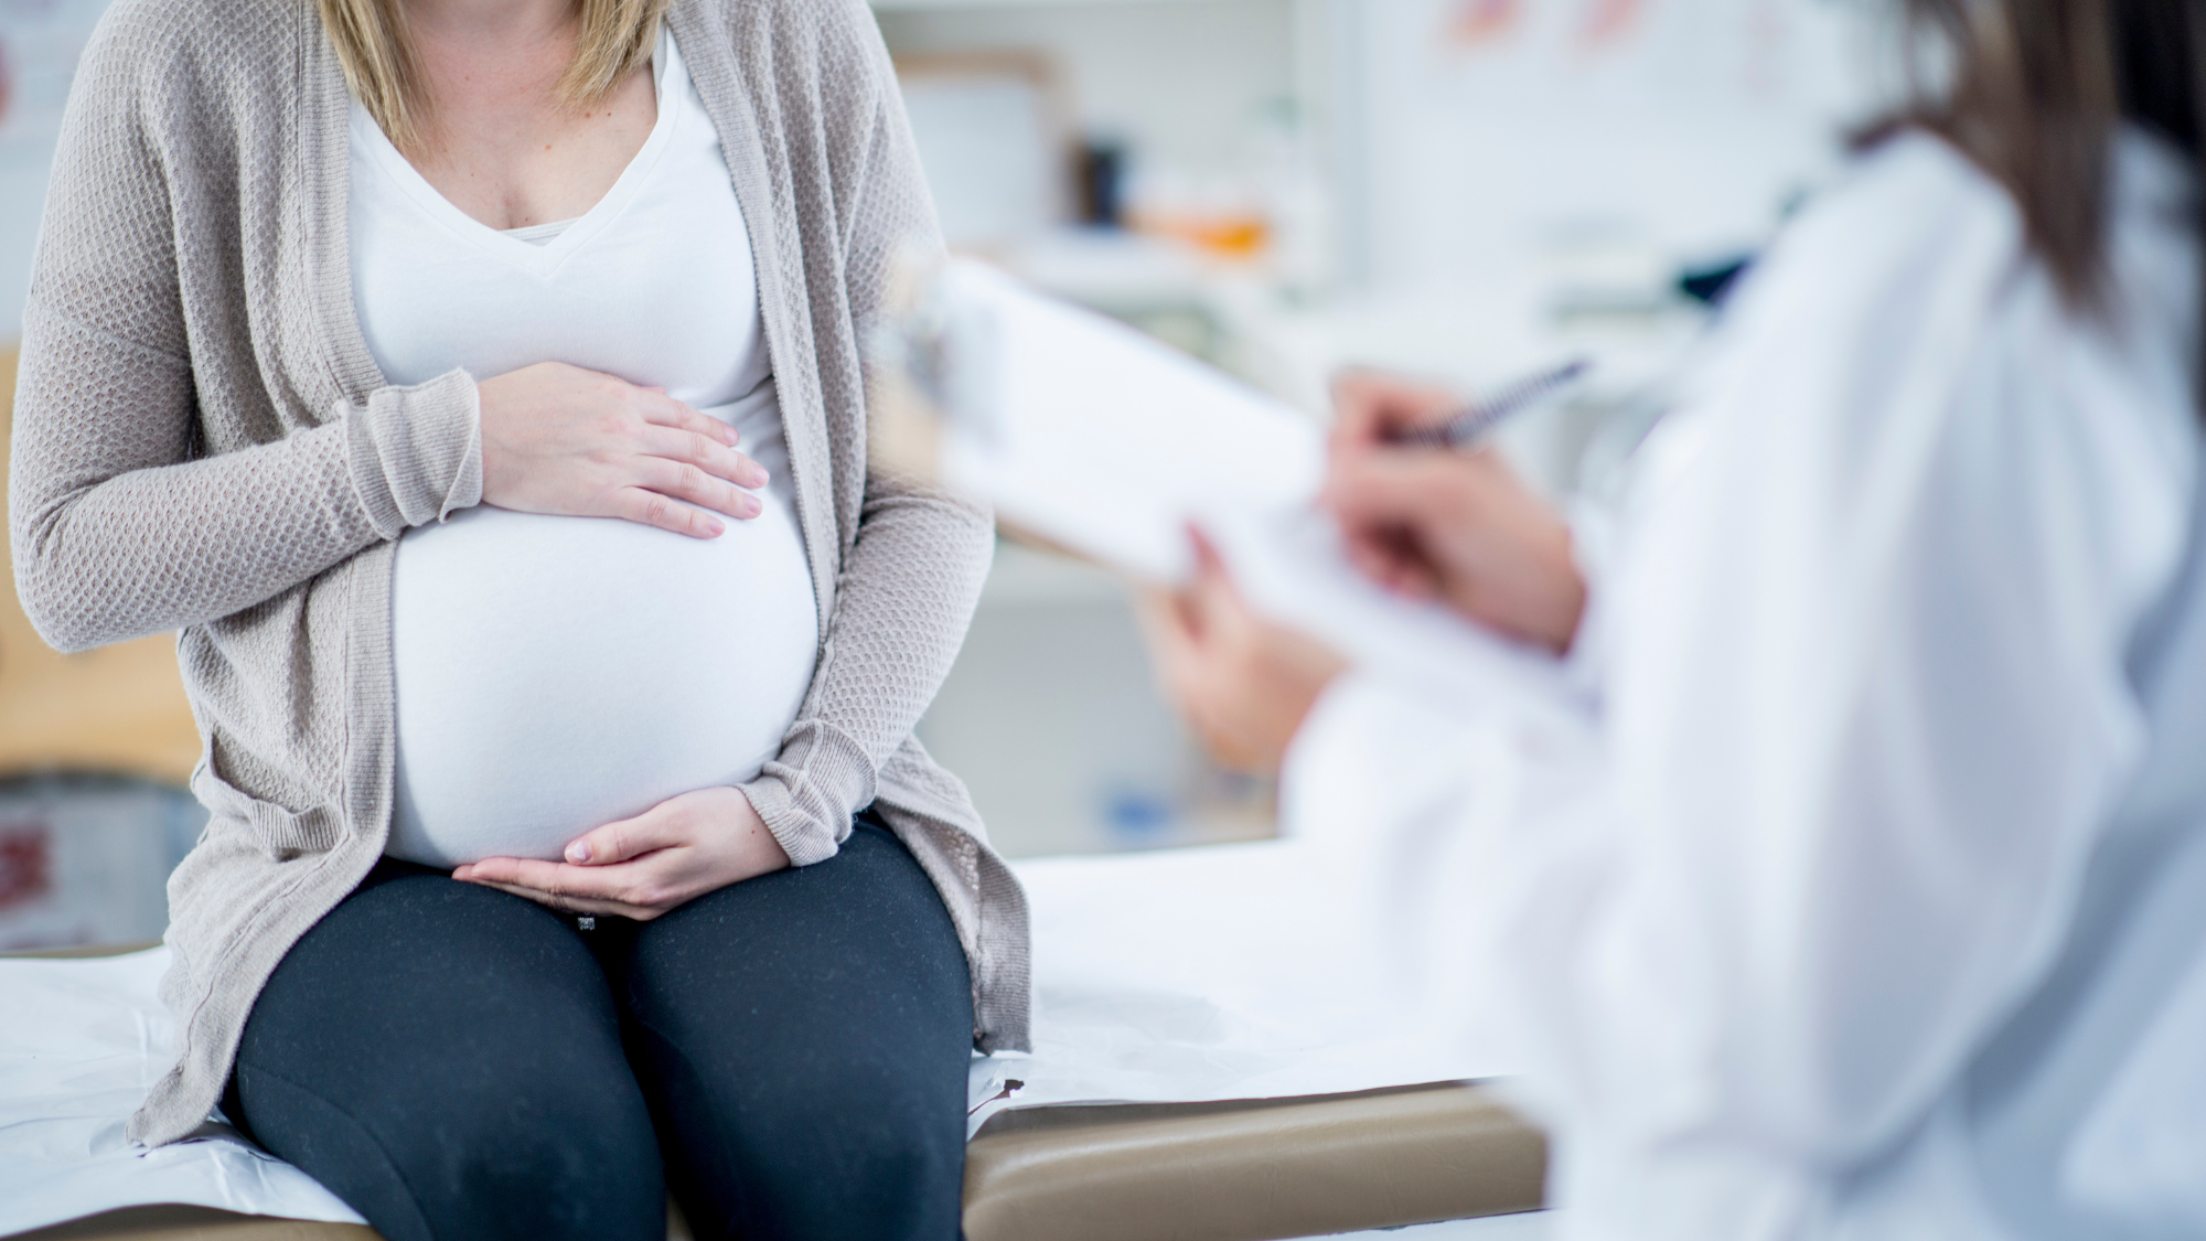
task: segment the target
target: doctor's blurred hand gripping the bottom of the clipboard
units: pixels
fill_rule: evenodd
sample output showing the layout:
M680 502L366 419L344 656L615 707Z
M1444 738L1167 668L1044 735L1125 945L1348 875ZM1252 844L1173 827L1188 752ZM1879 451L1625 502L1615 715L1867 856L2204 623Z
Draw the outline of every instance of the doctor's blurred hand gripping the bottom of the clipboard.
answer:
M1317 696L1348 667L1324 643L1249 607L1200 532L1196 579L1149 592L1141 620L1158 682L1220 764L1275 771Z

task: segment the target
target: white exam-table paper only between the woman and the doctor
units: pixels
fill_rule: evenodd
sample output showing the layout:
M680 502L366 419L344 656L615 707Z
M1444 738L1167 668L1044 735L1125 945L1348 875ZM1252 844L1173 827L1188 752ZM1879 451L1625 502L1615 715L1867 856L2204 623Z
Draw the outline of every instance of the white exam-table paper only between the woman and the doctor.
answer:
M1035 919L1035 1051L975 1060L1004 1106L1330 1095L1504 1075L1445 1022L1339 850L1255 841L1015 866ZM1024 1086L997 1100L1006 1080Z

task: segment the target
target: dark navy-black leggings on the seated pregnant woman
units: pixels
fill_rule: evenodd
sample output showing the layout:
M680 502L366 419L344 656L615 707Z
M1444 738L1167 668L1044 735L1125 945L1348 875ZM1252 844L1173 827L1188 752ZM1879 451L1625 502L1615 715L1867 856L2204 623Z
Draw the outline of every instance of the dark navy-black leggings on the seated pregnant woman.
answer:
M843 852L651 923L384 859L276 967L225 1111L388 1241L960 1234L966 961L918 861ZM664 1155L664 1162L662 1162Z

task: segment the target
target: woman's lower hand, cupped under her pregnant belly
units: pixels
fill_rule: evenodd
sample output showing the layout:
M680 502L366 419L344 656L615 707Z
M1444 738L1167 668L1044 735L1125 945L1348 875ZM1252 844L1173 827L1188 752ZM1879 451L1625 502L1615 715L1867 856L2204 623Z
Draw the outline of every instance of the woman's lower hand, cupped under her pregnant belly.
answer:
M699 788L576 837L567 861L490 857L461 866L452 879L574 914L651 921L788 863L790 855L741 788Z

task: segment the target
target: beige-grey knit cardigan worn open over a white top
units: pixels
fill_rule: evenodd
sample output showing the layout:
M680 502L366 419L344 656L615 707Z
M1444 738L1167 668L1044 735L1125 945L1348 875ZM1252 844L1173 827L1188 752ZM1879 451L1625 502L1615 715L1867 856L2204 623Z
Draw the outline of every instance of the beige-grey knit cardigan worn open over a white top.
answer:
M940 245L863 0L675 0L759 269L818 673L746 793L799 866L882 817L964 941L982 1051L1028 1040L1026 899L911 729L988 568L986 512L867 468L858 338ZM346 258L346 108L311 0L119 0L77 73L15 397L24 609L77 651L163 629L214 810L170 879L176 1067L130 1122L196 1128L285 952L384 852L390 565L481 501L474 382L377 373Z

